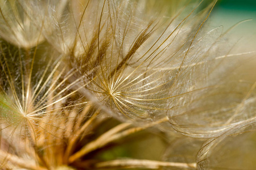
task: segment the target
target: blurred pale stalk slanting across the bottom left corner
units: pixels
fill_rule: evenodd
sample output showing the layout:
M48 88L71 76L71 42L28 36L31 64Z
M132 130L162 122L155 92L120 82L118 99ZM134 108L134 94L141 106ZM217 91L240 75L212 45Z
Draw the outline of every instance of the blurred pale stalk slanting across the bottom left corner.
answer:
M8 161L22 168L33 169L33 170L46 170L46 168L40 167L39 165L35 165L32 162L28 162L27 160L20 159L18 158L18 156L9 154L7 152L3 152L1 150L0 150L0 155L6 155L6 159Z

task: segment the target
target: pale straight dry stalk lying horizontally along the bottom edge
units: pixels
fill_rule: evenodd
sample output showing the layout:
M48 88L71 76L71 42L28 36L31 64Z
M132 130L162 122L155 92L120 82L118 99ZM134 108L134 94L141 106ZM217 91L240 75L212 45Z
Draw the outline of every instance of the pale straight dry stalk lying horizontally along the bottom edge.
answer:
M196 163L160 162L155 160L119 159L95 164L94 168L148 168L159 169L161 167L179 167L196 169Z

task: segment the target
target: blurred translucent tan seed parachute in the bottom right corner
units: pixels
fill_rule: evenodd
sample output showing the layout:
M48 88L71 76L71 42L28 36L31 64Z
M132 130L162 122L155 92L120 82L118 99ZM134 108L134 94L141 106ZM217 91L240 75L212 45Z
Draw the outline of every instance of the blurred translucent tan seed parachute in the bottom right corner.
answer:
M199 169L254 169L255 125L254 116L233 125L220 137L208 139L197 155Z

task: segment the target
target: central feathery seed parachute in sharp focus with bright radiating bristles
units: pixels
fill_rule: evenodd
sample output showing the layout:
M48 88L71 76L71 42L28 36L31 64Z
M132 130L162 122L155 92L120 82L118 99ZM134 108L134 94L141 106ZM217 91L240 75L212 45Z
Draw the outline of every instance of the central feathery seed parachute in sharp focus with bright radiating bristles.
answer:
M195 15L196 8L188 13L181 9L179 14L183 19L175 15L170 16L170 21L155 22L156 18L140 18L143 10L137 14L133 9L143 3L146 2L102 1L96 4L88 1L81 10L79 22L73 21L75 38L64 33L61 40L69 49L69 52L63 51L70 57L69 61L73 61L72 67L79 69L77 76L84 77L81 86L86 84L85 91L92 92L107 107L121 113L119 116L151 120L165 117L169 109L176 107L166 105L167 100L172 103L177 96L197 91L193 88L170 94L185 83L179 84L177 79L185 80L183 76L189 76L187 71L200 65L199 61L214 59L208 54L215 42L200 47L204 37L197 37L204 23L201 23L201 15L208 14L209 9L198 14L199 19L193 23L189 19ZM101 10L94 11L97 8L91 6L101 6ZM97 14L93 15L95 19L89 22L94 29L90 31L86 24L91 19L89 14L94 13ZM207 15L205 17L206 20ZM57 30L62 35L65 27Z

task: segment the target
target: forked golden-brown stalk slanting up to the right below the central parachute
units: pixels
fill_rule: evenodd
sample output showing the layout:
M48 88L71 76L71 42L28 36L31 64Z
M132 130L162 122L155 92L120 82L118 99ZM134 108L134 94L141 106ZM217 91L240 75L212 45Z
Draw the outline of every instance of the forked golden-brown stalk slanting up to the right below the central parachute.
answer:
M98 148L101 148L103 146L106 146L111 142L114 142L118 139L126 137L127 135L136 133L137 131L147 129L151 126L158 125L158 124L160 124L162 122L166 122L166 121L168 121L167 117L163 118L162 120L153 122L146 126L143 126L143 127L130 128L130 129L127 129L124 131L122 131L122 130L126 129L128 126L130 126L131 123L123 123L118 126L115 126L114 128L110 129L109 131L107 131L106 133L104 133L103 135L98 137L95 141L88 143L87 145L82 147L81 150L79 150L75 154L71 155L69 157L69 163L75 162L75 160L81 158L82 156L88 154L89 152L91 152L93 150L97 150ZM121 131L121 132L119 132L119 131Z

